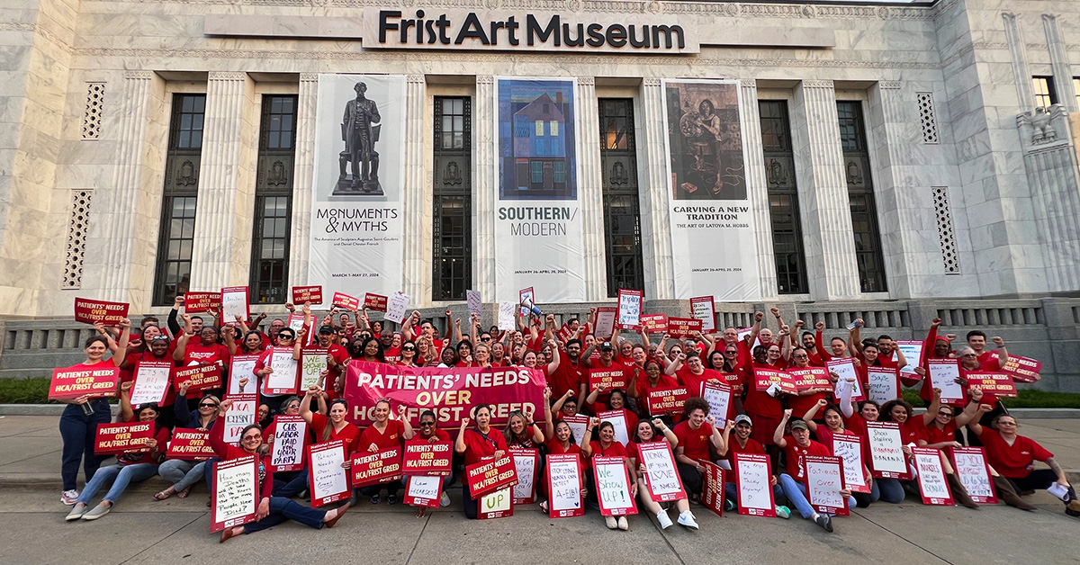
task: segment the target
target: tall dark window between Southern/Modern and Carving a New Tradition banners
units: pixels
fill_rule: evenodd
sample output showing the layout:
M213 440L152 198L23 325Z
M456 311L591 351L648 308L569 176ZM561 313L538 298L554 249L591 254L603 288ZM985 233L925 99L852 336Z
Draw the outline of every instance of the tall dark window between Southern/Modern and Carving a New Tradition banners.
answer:
M600 98L599 125L607 286L615 298L619 288L645 288L633 98ZM564 170L555 173L561 183Z

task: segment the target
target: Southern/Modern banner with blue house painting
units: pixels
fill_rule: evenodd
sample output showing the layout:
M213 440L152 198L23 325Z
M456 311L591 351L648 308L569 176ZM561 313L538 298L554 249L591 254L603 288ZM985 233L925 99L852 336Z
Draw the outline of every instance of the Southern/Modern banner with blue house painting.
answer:
M585 299L573 79L495 79L496 300Z

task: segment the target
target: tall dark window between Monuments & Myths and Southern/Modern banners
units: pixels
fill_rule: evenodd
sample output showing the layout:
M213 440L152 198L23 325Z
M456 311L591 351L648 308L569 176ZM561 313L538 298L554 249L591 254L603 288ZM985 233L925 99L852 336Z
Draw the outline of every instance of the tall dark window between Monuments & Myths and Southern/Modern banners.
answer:
M464 300L472 287L472 98L435 96L434 103L431 293L433 300Z

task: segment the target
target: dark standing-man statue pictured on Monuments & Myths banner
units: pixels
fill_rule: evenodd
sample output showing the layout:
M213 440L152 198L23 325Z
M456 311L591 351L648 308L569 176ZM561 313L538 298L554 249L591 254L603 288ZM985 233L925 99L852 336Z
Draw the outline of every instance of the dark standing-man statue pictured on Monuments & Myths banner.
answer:
M382 196L379 185L379 140L381 117L375 100L367 98L367 84L357 82L356 97L345 105L341 140L345 151L338 157L340 175L334 196Z

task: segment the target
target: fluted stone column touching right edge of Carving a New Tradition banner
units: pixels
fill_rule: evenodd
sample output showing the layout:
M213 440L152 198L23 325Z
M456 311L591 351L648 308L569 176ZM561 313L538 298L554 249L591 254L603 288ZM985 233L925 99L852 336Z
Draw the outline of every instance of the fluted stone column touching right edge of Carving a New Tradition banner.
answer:
M757 82L742 81L743 165L746 189L754 210L754 236L757 241L757 270L760 273L761 299L777 296L777 261L772 251L772 217L769 214L769 187L765 180L765 148L761 145L761 117L757 108Z

